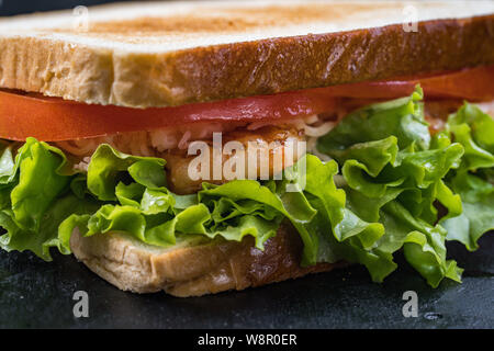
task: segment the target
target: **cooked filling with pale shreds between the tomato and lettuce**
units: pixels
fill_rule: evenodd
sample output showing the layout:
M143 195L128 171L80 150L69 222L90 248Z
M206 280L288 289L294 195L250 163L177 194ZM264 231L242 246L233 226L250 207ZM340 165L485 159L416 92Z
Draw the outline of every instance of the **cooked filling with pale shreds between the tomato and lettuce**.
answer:
M349 112L368 103L369 101L348 100L335 112L289 120L276 125L270 122L199 122L149 132L59 141L57 146L81 159L75 166L80 170L87 170L90 156L100 144L109 144L130 155L164 158L167 161L170 190L178 194L191 194L201 190L203 181L222 184L235 179L274 178L293 166L305 152L328 160L327 155L317 151L317 138L327 134ZM461 103L460 100L426 102L425 116L430 131L441 131L447 116L458 110ZM494 114L493 101L479 106ZM220 147L223 148L220 151L214 143L215 135L221 135ZM194 147L198 141L203 146L200 152ZM232 143L236 143L236 147L228 147ZM201 156L202 159L199 160ZM217 169L221 171L216 171Z

